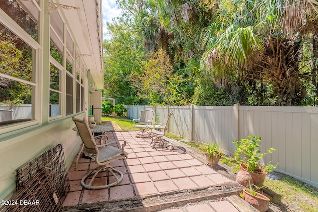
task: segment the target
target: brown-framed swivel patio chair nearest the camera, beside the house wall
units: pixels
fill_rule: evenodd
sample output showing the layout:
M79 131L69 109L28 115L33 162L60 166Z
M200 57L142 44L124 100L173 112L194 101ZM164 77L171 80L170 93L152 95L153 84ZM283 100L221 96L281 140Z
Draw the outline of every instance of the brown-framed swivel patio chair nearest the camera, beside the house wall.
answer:
M126 146L126 141L117 140L117 141L110 141L105 144L97 145L95 138L101 137L103 135L93 137L86 118L81 120L81 119L72 117L72 120L74 121L76 127L78 128L79 136L83 141L82 150L84 154L92 158L95 161L95 163L98 165L96 168L89 171L88 174L86 174L81 179L81 185L87 189L104 189L104 188L117 185L123 179L123 173L117 169L114 169L109 164L116 160L127 158L127 152L124 151L124 147ZM123 141L123 143L121 144L121 149L111 146L112 143L116 143L119 141ZM81 152L79 154L81 154ZM116 181L110 184L107 184L107 181L106 181L105 185L93 186L92 183L96 175L101 171L108 171L109 175L113 175ZM118 177L115 173L119 174L120 177ZM92 175L91 179L87 179L91 175ZM88 184L86 183L86 180L89 180Z

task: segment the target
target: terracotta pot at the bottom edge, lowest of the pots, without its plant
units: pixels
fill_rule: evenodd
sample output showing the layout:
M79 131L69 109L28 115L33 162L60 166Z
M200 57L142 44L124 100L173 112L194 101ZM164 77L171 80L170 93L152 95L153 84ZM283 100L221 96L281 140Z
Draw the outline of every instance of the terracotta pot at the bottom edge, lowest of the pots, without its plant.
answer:
M259 192L256 192L258 196L254 196L248 193L248 189L243 190L244 200L252 205L254 208L260 212L266 212L269 207L269 198L265 195L262 195Z

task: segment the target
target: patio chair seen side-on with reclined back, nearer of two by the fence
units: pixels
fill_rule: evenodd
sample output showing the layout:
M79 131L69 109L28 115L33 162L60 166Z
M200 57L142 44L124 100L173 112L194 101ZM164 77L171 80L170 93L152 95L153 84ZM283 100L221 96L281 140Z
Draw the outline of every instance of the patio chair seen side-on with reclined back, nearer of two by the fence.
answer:
M151 146L152 148L168 148L170 150L173 149L173 146L170 142L162 139L162 137L165 136L166 132L168 131L168 125L172 115L173 113L171 112L165 124L157 123L158 125L149 126L149 137L151 137L151 142L149 143L149 146Z

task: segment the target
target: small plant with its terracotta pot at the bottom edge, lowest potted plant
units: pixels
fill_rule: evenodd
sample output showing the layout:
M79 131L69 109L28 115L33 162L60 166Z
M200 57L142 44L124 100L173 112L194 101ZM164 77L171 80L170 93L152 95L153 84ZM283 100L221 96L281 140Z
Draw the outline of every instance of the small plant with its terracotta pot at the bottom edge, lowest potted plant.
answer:
M258 192L260 188L254 189L252 184L249 184L249 188L244 188L241 197L254 208L260 212L266 212L269 207L270 199L265 195Z

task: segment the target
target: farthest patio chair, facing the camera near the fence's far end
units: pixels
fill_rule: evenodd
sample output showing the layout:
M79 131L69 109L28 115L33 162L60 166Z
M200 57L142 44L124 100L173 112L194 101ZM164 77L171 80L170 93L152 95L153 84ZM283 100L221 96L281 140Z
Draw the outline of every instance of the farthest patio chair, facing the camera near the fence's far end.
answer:
M139 128L140 131L136 134L136 137L149 137L148 128L153 123L154 111L153 110L141 110L139 119L133 119L133 127ZM139 122L137 122L139 121ZM136 122L136 124L135 124Z

